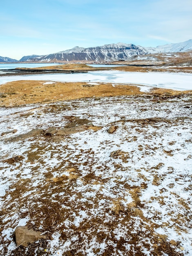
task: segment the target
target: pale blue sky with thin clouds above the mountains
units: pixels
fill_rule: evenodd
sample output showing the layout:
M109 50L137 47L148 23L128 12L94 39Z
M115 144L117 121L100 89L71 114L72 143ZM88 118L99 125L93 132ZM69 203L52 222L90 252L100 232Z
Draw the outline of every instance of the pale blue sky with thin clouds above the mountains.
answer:
M119 42L156 47L192 39L191 24L192 0L3 0L0 56Z

